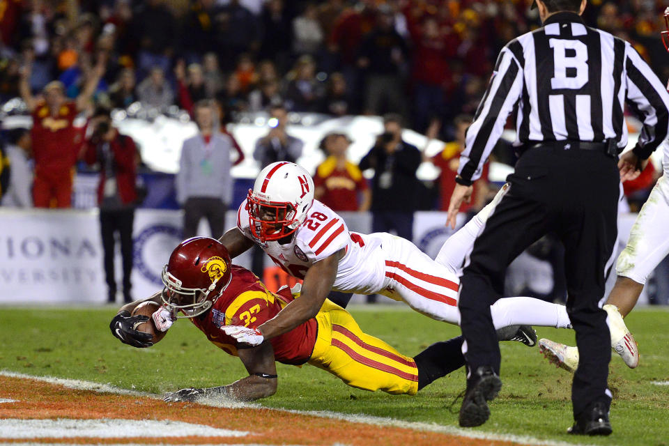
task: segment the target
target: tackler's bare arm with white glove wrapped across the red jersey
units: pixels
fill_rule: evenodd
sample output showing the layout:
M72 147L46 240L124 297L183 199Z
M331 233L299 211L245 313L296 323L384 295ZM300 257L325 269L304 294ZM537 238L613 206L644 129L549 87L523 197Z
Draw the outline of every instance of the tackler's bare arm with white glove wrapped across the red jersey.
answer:
M318 310L321 309L325 298L332 290L332 284L337 277L339 260L344 257L344 254L346 250L341 248L334 254L314 263L302 282L300 298L290 302L279 314L259 325L258 328L229 325L222 327L222 330L240 343L256 346L263 340L277 337L305 323L318 314Z

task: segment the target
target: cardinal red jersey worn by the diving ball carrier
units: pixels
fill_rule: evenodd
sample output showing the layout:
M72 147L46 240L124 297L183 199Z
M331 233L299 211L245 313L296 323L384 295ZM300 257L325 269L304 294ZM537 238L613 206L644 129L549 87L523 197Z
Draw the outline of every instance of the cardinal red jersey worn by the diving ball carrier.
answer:
M230 284L214 306L192 323L219 348L237 355L237 341L225 334L223 325L244 325L256 328L277 315L293 300L290 289L272 293L256 275L241 266L231 267ZM315 318L297 328L270 339L275 360L284 364L300 365L309 360L316 344L318 325Z

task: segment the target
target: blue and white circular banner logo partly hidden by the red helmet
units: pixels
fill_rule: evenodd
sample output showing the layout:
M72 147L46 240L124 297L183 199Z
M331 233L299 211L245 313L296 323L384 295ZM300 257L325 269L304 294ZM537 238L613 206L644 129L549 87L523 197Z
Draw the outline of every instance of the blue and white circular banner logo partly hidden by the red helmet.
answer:
M148 226L134 238L132 261L150 282L161 285L160 273L169 254L181 242L181 230L175 226L157 224Z

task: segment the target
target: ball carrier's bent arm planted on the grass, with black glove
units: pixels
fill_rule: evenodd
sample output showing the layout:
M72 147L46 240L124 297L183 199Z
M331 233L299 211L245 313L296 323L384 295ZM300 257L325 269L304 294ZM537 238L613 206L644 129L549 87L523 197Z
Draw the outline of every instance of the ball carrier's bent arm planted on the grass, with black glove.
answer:
M197 401L201 398L229 398L236 401L254 401L271 397L277 392L277 365L274 348L268 341L253 348L238 350L249 376L229 385L206 389L182 389L165 395L164 401Z

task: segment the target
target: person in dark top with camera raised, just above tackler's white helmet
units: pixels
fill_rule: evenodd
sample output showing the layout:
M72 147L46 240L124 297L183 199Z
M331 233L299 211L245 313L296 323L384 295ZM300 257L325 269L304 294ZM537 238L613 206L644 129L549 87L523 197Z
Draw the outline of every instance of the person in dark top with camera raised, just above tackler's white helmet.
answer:
M260 168L272 162L295 162L302 155L302 146L305 143L286 132L288 111L283 105L273 105L270 108L268 125L270 131L256 142L253 157L260 163Z

